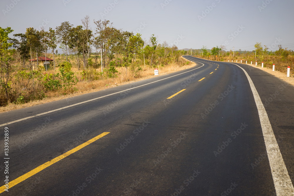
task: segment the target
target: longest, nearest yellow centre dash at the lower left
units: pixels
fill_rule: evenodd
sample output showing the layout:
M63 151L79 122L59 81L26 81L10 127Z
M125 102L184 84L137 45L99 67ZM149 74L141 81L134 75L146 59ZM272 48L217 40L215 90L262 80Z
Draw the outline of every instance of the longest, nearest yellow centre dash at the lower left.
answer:
M64 154L62 154L62 155L60 155L60 156L58 156L58 157L52 159L51 161L48 161L47 163L44 163L43 165L40 165L39 167L36 167L35 169L33 169L33 170L27 172L26 174L24 174L24 175L22 175L22 176L16 178L15 180L12 180L11 182L9 182L9 188L11 188L11 187L13 187L14 185L17 185L18 183L20 183L20 182L26 180L27 178L31 177L32 175L35 175L36 173L38 173L38 172L44 170L46 167L49 167L50 165L56 163L57 161L59 161L59 160L61 160L61 159L63 159L63 158L66 158L67 156L71 155L72 153L75 153L76 151L78 151L78 150L84 148L85 146L87 146L87 145L89 145L89 144L95 142L96 140L98 140L98 139L102 138L103 136L107 135L108 133L110 133L110 132L104 132L104 133L102 133L102 134L96 136L95 138L92 138L91 140L89 140L89 141L87 141L87 142L85 142L85 143L83 143L83 144L77 146L76 148L74 148L74 149L72 149L72 150L69 150L68 152L66 152L66 153L64 153ZM7 189L7 188L5 187L5 185L1 186L1 187L0 187L0 193L1 193L1 192L4 192L5 189Z

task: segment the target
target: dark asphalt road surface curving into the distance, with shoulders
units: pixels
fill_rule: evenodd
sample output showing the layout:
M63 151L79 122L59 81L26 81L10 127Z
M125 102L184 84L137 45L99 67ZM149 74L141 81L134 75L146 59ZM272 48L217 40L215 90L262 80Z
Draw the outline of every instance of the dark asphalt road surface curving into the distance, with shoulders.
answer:
M244 64L186 58L197 65L1 113L10 183L105 133L1 195L276 195L257 105L240 67L262 100L293 183L294 87Z

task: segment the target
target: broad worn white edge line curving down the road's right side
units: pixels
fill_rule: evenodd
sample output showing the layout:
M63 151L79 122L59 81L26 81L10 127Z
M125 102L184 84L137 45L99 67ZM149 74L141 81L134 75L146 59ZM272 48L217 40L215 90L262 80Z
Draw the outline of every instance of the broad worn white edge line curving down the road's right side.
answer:
M230 63L233 64L233 63ZM236 65L236 64L233 64ZM238 65L236 65L238 66ZM238 66L240 67L240 66ZM266 152L268 153L268 160L270 162L270 170L272 172L273 181L275 184L275 190L277 196L280 195L294 195L294 188L292 181L289 177L288 170L286 168L286 165L284 163L282 154L280 152L280 148L278 146L277 140L275 138L273 128L270 125L270 120L268 119L268 115L265 111L265 108L263 106L263 103L260 100L260 97L258 95L258 92L248 75L248 73L240 67L245 75L248 78L251 91L254 96L254 100L257 106L260 124L262 128L264 143L266 147Z

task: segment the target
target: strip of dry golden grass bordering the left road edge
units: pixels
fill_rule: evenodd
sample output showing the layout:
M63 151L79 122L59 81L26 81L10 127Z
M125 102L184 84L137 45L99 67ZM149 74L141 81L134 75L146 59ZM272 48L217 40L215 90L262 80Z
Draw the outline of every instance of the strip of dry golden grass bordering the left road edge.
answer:
M181 58L181 62L188 62L186 59ZM190 62L190 61L189 61ZM165 75L167 73L171 73L171 72L175 72L175 71L180 71L186 68L190 68L195 66L195 63L189 63L188 65L185 66L179 66L177 64L170 64L168 66L164 66L161 67L159 69L159 75ZM44 73L57 73L57 70L48 70L48 71L44 71ZM79 82L77 83L76 87L78 89L78 91L76 91L75 93L68 93L68 92L64 92L62 90L60 91L49 91L46 92L46 98L44 98L43 100L33 100L30 101L29 103L24 103L24 104L15 104L15 103L9 103L7 106L5 107L1 107L0 108L0 113L3 112L7 112L10 110L16 110L19 108L26 108L26 107L30 107L33 105L38 105L38 104L42 104L42 103L48 103L51 101L56 101L56 100L61 100L61 99L65 99L65 98L69 98L69 97L73 97L73 96L77 96L77 95L81 95L81 94L85 94L85 93L91 93L91 92L96 92L96 91L100 91L103 90L105 88L112 88L115 86L119 86L119 85L123 85L123 84L127 84L127 83L132 83L132 82L136 82L136 81L140 81L140 80L144 80L147 78L152 78L152 77L157 77L154 76L154 68L151 67L146 67L143 69L143 71L140 72L140 75L135 77L130 70L128 69L128 77L126 77L126 68L117 68L118 72L121 74L117 74L118 77L111 79L101 79L101 80L97 80L97 81L81 81L81 70L78 71L76 68L73 68L73 71L76 73L76 76L79 80ZM97 69L97 71L101 71L101 69ZM65 95L65 93L67 93Z

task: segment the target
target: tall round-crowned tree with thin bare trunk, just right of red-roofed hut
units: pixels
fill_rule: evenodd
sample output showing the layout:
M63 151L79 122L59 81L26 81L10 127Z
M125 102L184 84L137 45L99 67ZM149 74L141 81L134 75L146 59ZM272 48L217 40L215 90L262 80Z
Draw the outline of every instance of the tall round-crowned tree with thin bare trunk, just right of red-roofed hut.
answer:
M69 22L63 22L61 23L60 26L56 26L56 35L58 36L58 41L59 43L64 44L65 49L66 49L66 61L67 59L67 45L69 41L69 34L72 29L73 25L70 24Z

